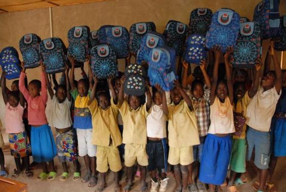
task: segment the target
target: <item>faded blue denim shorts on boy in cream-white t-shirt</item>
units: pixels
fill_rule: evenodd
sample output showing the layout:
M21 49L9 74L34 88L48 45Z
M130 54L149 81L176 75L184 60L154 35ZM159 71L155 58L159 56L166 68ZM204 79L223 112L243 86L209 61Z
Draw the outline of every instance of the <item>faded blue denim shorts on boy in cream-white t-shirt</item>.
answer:
M254 148L254 164L259 169L267 169L270 161L270 133L257 131L248 126L246 157L247 161L251 160Z

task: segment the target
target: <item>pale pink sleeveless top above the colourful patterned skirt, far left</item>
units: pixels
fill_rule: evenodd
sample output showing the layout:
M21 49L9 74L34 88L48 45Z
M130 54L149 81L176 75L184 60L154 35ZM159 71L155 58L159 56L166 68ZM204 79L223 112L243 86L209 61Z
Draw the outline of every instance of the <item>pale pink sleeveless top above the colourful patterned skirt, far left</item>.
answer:
M23 123L24 108L19 103L15 108L7 102L5 107L4 124L6 133L21 133L25 131Z

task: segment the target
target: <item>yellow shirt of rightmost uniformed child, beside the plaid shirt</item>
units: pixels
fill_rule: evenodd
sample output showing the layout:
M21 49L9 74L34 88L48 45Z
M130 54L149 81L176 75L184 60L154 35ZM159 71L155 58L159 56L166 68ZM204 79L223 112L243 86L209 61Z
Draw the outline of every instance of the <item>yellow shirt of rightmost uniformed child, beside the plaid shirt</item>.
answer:
M168 106L169 110L169 146L186 147L199 144L197 119L194 111L190 111L185 100L177 105Z

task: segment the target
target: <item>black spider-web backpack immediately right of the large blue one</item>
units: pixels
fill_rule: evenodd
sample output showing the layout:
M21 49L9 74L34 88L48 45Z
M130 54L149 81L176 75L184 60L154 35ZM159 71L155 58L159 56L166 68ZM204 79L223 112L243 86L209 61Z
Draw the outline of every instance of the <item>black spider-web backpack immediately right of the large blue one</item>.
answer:
M234 46L231 61L233 67L250 68L255 66L255 61L261 56L261 33L257 22L240 24L236 46Z

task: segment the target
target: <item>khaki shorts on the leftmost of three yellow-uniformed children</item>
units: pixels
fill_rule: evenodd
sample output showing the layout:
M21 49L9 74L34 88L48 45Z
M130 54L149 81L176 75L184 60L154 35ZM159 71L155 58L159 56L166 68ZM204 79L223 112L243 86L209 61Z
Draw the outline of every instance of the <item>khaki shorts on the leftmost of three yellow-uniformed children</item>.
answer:
M118 172L122 168L118 148L112 145L97 145L96 170L100 173L106 173L108 165L113 172Z

